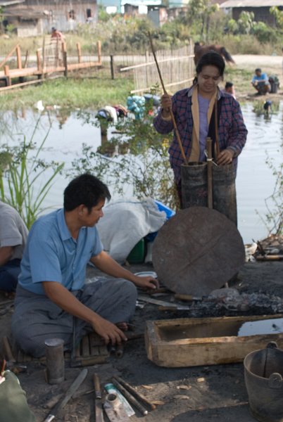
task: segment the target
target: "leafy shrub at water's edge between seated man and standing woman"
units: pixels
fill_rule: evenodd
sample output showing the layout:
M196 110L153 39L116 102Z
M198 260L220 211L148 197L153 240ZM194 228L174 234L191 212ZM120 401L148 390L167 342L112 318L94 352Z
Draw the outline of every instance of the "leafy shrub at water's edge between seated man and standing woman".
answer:
M120 134L99 151L84 145L81 158L73 161L70 173L94 172L119 195L125 195L127 187L132 186L138 199L151 197L175 208L177 197L168 160L168 144L172 135L165 138L158 134L149 114L144 120L129 117L116 129Z

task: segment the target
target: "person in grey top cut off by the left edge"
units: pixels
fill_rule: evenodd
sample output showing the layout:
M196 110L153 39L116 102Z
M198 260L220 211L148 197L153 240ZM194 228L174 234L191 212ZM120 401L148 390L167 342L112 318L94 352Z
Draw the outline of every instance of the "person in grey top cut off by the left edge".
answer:
M18 211L0 200L0 290L7 293L17 287L27 233Z

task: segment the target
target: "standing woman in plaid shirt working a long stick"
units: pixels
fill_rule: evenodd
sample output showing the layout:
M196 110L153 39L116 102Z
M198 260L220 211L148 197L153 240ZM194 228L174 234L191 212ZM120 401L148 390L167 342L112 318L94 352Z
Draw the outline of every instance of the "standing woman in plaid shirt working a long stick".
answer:
M237 157L246 143L248 131L239 103L230 94L225 94L218 88L223 80L224 70L225 61L220 54L215 51L203 54L196 65L193 85L176 92L172 97L164 94L161 98L161 110L153 124L157 132L161 134L171 132L173 123L170 109L172 109L184 153L189 162L206 161L207 136L210 136L213 141L213 156L215 157L215 132L217 132L220 153L216 162L218 165L233 162L236 173ZM218 116L217 128L215 109ZM170 145L169 154L182 204L181 165L184 160L176 134Z

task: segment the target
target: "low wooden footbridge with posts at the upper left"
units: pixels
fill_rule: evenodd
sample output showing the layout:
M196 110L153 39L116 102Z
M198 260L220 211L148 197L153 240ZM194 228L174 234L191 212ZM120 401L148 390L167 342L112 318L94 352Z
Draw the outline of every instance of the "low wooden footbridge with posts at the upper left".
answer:
M11 68L8 65L13 54L16 57L16 68ZM67 77L69 71L101 67L100 41L97 43L96 56L97 60L94 61L94 55L90 55L89 53L82 55L79 43L76 44L76 54L68 54L65 41L54 41L43 46L42 49L38 49L36 52L36 65L27 67L27 56L23 63L20 46L16 45L0 63L0 81L4 81L5 85L4 87L0 87L0 91L32 83L32 81L24 82L27 77L36 77L38 80L58 72L63 72ZM1 70L2 68L3 70ZM12 84L13 79L18 79L20 83Z

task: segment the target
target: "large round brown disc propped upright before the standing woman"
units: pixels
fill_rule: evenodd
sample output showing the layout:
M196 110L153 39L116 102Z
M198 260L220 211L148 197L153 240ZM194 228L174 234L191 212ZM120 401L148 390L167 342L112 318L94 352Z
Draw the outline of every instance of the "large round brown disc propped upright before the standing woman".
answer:
M175 293L208 295L244 264L245 249L235 224L206 207L180 210L153 243L158 280Z

